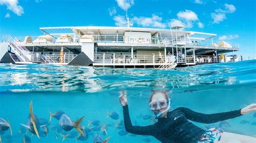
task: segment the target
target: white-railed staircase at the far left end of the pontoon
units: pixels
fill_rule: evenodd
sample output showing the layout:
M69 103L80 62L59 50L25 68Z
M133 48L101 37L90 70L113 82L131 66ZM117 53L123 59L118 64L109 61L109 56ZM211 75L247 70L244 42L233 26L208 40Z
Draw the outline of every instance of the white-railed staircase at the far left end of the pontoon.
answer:
M3 35L3 39L6 42L9 42L9 46L14 49L14 52L19 58L21 58L24 62L31 62L32 61L32 54L31 52L23 46L22 42L17 40L16 38L12 38L10 35Z

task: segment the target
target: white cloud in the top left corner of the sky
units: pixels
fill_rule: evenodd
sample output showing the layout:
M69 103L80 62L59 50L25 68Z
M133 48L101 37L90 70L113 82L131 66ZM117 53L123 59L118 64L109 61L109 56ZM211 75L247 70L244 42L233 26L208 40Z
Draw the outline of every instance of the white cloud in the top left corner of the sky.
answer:
M18 5L18 0L0 0L0 5L6 5L7 9L21 16L24 11L21 5Z

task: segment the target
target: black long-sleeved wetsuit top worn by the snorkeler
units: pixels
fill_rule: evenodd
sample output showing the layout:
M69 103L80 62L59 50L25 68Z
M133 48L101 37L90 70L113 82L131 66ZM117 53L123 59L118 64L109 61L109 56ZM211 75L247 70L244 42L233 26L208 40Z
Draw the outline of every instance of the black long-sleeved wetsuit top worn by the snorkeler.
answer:
M198 142L205 130L188 120L199 123L215 123L241 116L241 109L213 114L203 114L188 108L177 108L167 113L167 118L159 118L158 122L149 126L133 126L128 105L123 106L124 125L127 132L140 135L152 135L161 142Z

